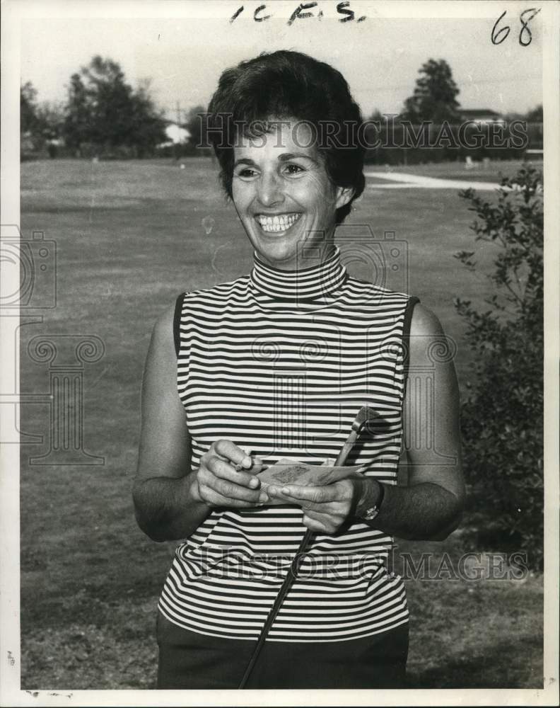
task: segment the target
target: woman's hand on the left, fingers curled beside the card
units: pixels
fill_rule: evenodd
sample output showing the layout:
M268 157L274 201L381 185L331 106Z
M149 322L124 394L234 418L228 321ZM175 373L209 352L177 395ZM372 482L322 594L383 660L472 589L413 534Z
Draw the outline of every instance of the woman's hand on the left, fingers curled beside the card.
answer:
M243 469L237 470L235 465ZM208 506L262 506L269 501L256 476L262 467L262 460L253 459L231 440L218 440L200 458L192 480L192 496Z

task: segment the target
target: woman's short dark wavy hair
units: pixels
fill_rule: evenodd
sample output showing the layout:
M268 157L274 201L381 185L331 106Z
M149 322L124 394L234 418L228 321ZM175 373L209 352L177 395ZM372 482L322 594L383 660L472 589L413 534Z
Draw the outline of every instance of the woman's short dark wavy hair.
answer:
M296 118L315 127L317 148L325 158L330 180L354 189L351 200L337 210L340 224L365 183L365 150L358 139L363 118L344 76L325 62L287 50L265 52L223 72L206 115L206 135L216 152L228 196L232 195L233 146L240 126L244 135L255 135L259 132L255 124L262 126L262 133L272 117Z

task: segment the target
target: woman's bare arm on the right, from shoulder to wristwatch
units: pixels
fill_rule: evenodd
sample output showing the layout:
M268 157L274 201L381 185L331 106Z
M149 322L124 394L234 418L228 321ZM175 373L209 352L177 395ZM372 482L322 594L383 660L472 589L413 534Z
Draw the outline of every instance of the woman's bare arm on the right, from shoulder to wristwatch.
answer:
M420 304L414 308L409 343L409 381L404 400L407 448L406 486L385 485L376 528L407 539L443 539L460 522L465 503L462 476L459 390L449 356L436 357L431 346L447 347L437 317ZM429 386L433 382L433 395ZM377 488L377 489L376 489ZM365 513L379 496L368 484L356 513Z

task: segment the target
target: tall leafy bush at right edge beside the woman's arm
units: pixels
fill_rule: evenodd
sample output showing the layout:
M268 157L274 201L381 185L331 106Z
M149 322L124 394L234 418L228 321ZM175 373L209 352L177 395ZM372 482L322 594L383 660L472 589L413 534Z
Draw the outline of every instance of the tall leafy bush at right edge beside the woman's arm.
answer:
M477 241L498 246L491 309L456 299L474 350L474 382L462 407L471 520L480 544L527 552L542 568L543 204L542 173L525 163L502 178L497 203L468 189ZM456 254L476 271L474 251Z

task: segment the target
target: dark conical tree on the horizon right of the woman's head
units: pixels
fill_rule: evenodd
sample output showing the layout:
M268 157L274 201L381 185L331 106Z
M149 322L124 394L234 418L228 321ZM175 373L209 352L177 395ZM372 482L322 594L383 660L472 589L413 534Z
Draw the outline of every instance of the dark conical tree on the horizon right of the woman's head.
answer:
M419 74L421 76L416 79L414 94L404 101L402 118L416 123L423 120L435 123L457 121L459 103L455 99L459 89L445 59L437 62L428 59L419 69Z

